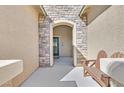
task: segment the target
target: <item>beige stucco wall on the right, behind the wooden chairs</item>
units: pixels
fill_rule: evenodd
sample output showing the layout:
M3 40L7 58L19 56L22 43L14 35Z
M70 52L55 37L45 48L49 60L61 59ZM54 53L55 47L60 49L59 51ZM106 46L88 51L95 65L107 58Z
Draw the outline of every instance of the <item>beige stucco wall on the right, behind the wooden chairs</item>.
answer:
M124 52L124 6L111 6L88 25L88 58L104 49L110 56Z

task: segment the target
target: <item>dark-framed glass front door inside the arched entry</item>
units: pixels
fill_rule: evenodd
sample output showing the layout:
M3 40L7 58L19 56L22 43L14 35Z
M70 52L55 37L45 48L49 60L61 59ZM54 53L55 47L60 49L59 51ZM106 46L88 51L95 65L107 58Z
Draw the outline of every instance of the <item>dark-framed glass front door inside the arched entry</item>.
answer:
M59 57L59 37L53 37L53 54L54 57Z

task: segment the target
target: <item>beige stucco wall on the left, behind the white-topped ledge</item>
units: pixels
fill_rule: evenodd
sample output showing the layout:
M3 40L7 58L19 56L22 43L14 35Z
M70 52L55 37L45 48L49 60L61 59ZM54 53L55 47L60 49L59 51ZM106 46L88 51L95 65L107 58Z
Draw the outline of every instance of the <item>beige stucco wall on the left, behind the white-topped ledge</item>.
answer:
M0 6L0 59L23 59L18 86L38 68L38 12L32 6Z

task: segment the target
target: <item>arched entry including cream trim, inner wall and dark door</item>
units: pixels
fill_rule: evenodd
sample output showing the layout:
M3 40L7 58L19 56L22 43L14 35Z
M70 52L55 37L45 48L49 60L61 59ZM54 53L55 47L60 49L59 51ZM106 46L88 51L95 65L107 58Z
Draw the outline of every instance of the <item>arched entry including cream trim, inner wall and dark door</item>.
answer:
M76 66L76 24L67 20L54 21L50 31L50 65L55 58L69 58ZM67 58L67 59L68 59Z

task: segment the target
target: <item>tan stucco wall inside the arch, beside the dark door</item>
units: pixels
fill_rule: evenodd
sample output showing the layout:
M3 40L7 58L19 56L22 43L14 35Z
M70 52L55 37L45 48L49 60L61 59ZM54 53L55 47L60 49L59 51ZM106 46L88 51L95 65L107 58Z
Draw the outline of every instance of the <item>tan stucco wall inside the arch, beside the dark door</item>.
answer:
M61 25L53 29L53 36L60 37L60 56L72 56L72 28Z

